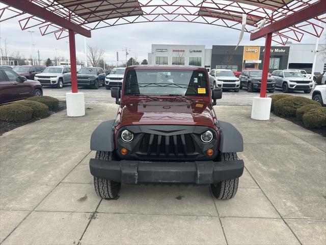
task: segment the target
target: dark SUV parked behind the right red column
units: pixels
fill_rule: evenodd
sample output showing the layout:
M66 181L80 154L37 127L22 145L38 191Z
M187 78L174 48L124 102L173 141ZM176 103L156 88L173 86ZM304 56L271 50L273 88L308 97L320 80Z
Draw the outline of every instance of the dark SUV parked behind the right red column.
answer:
M243 70L240 79L240 89L246 87L248 92L259 91L261 86L262 70ZM267 79L267 90L268 92L274 93L275 80L273 78Z

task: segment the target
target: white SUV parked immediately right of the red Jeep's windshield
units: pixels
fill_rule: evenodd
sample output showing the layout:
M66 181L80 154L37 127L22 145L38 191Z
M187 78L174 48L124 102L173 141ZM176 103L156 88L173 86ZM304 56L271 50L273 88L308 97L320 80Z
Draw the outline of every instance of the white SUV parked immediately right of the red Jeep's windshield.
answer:
M234 75L232 70L212 69L209 75L209 82L212 88L232 89L234 92L239 92L240 80Z

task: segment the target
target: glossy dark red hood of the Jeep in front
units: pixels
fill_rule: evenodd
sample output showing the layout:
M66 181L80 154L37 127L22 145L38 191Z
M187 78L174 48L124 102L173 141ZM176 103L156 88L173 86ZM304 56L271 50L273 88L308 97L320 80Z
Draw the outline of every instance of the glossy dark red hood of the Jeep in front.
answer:
M197 125L214 128L212 106L207 102L142 101L128 102L122 107L120 126L128 125Z

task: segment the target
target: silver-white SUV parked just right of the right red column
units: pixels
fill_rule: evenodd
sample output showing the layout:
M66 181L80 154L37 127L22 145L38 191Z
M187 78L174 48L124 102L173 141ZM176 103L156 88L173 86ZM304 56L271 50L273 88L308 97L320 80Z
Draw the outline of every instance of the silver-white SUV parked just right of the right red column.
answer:
M290 91L304 91L310 93L314 82L297 70L275 70L271 74L276 83L276 88L282 88L283 93Z

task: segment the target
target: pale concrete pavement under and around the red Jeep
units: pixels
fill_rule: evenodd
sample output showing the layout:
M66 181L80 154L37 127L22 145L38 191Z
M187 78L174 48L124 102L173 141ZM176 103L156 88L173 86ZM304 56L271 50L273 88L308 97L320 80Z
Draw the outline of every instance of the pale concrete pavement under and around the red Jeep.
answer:
M250 107L215 106L241 132L246 169L234 199L207 186L122 185L101 200L88 161L91 132L114 104L53 114L0 136L1 244L324 244L326 140Z

